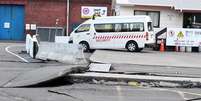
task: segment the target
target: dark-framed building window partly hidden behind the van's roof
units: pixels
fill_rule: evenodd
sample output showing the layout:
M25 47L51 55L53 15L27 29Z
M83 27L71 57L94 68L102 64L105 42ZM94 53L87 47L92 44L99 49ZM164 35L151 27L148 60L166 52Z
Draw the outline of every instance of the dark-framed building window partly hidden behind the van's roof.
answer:
M151 17L153 26L160 27L160 12L159 11L134 11L134 15L148 15Z

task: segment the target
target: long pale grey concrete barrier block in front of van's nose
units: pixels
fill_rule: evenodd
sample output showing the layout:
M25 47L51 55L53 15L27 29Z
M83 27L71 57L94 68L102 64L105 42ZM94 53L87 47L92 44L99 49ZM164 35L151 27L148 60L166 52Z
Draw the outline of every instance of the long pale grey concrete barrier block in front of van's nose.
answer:
M87 63L81 46L66 43L41 42L36 58L67 64Z

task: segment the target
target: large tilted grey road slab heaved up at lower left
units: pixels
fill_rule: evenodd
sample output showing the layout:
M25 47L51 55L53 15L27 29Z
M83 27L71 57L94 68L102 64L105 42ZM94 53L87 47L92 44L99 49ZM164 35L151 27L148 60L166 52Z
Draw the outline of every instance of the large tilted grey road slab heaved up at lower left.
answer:
M83 65L51 66L28 71L17 76L3 87L25 87L33 86L59 77L63 77L72 72L75 68L84 68Z

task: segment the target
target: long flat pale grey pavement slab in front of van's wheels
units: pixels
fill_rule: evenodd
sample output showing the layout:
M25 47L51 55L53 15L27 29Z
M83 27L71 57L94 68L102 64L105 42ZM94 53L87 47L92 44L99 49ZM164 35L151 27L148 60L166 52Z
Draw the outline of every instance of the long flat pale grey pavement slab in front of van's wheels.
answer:
M127 52L96 50L90 61L110 64L138 64L152 66L198 67L201 68L201 53L184 52Z

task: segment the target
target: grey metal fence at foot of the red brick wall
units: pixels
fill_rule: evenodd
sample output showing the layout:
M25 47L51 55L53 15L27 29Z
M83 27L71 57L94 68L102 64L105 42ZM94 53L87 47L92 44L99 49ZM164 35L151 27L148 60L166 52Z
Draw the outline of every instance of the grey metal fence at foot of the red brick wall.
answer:
M37 27L36 34L40 41L54 42L55 36L64 36L63 27Z

